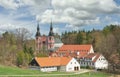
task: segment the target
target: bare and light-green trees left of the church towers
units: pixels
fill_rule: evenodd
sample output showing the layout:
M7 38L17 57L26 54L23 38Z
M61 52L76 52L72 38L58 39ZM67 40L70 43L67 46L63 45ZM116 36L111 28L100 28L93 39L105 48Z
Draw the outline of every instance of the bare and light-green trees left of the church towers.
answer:
M29 44L29 32L27 29L17 29L13 32L6 31L0 37L0 64L4 65L28 65L34 56L32 44Z

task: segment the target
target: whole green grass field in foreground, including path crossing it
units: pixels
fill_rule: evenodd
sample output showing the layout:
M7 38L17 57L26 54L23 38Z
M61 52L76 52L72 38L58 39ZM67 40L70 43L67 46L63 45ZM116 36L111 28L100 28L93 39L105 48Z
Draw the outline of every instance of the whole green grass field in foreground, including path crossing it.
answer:
M18 75L18 76L17 76ZM75 74L68 72L40 72L39 70L20 69L17 67L8 67L0 65L0 77L109 77L109 74L103 72L90 72L84 74Z

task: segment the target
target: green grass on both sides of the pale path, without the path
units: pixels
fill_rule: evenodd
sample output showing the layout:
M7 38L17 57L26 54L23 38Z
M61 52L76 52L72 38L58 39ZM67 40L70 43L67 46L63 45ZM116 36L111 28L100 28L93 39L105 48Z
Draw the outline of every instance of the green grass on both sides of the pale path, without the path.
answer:
M0 75L43 75L43 74L71 74L63 72L40 72L38 70L20 69L17 67L8 67L0 65ZM108 77L108 74L96 72L85 73L78 75L57 76L57 77ZM56 76L44 76L44 77L56 77Z

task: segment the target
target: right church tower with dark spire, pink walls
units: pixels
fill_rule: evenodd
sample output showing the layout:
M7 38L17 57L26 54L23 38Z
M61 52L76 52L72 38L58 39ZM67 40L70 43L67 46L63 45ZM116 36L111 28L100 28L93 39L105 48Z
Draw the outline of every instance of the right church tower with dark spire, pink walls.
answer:
M52 27L52 22L50 24L50 31L48 35L48 50L53 50L54 49L54 33L53 33L53 27Z

